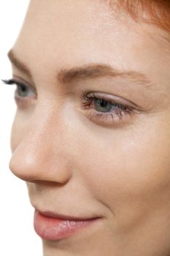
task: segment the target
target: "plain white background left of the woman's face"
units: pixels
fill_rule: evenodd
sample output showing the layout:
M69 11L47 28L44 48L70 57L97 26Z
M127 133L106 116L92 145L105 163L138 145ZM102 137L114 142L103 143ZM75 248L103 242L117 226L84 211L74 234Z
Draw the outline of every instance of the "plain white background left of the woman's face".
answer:
M7 52L18 36L27 7L28 0L0 1L0 79L11 78ZM26 184L8 168L10 129L15 116L13 95L13 86L4 86L0 81L0 255L42 256Z

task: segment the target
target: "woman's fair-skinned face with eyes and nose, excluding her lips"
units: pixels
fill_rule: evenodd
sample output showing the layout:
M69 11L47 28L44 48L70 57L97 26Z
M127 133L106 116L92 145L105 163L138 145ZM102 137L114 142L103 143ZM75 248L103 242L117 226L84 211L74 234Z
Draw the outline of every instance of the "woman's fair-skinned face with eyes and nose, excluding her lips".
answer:
M98 217L43 239L47 256L170 253L168 36L119 16L107 1L32 0L9 53L27 86L12 172L37 210Z

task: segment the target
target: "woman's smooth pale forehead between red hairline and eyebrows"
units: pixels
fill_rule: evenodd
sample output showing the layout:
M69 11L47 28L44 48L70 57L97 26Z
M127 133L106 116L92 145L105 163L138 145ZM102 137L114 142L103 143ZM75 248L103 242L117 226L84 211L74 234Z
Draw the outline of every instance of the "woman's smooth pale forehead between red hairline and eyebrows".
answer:
M73 64L107 62L157 81L160 67L153 64L169 63L162 35L161 29L114 16L103 0L32 0L14 48L33 75L45 79Z

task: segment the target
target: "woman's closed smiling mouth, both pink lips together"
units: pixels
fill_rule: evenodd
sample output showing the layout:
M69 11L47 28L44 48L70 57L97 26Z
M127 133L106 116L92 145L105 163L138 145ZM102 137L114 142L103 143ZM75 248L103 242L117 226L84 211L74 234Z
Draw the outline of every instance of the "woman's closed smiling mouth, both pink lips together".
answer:
M73 236L75 233L90 228L99 217L82 218L55 214L50 211L34 212L34 230L42 239L57 241Z

